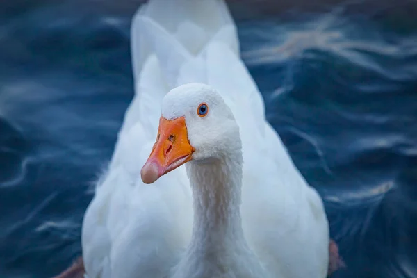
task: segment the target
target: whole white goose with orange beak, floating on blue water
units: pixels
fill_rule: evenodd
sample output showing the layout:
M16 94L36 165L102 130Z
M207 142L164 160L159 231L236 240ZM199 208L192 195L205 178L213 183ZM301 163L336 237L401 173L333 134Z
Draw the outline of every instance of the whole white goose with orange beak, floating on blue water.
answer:
M138 10L136 94L83 220L86 277L327 276L322 200L266 122L238 48L223 1Z

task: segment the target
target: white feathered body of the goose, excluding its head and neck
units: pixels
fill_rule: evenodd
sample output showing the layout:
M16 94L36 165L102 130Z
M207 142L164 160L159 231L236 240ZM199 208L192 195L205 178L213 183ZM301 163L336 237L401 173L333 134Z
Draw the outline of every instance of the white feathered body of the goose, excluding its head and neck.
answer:
M131 34L136 95L83 220L88 277L170 277L183 258L194 216L186 169L149 186L140 168L156 138L163 97L190 82L215 88L240 128L240 213L250 250L271 277L326 277L329 228L322 200L265 120L224 2L151 0L136 13Z

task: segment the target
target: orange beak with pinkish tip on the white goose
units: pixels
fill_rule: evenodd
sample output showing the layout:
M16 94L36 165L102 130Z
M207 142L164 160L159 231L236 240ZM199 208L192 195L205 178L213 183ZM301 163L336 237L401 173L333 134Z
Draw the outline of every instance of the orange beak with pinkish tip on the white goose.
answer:
M191 160L195 151L188 141L186 119L159 119L158 137L152 152L140 171L144 183L154 183L163 174Z

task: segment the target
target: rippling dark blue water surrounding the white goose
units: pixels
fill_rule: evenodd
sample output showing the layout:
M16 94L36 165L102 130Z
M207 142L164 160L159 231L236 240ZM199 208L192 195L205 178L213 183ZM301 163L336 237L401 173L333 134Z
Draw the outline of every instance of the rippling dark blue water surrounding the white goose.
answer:
M0 277L81 254L133 97L136 3L115 2L0 3ZM417 277L417 5L369 3L234 15L268 120L325 200L334 277Z

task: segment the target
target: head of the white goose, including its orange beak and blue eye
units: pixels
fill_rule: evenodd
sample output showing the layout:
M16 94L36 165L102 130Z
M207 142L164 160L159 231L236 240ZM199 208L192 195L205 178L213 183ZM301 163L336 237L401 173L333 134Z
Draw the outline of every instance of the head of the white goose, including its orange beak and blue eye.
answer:
M220 94L188 83L163 98L156 142L140 175L154 183L188 161L204 163L240 148L238 124Z

